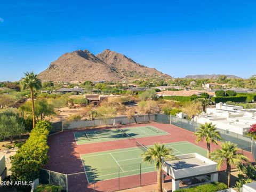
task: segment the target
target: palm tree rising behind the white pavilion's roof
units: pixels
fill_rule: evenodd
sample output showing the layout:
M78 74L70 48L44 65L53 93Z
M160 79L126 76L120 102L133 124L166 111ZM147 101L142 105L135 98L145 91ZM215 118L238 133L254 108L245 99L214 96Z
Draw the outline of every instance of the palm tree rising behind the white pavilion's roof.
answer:
M204 140L207 146L207 158L210 158L211 142L218 145L217 140L221 140L220 132L217 131L215 125L212 123L201 124L198 131L194 133L196 135L196 142Z

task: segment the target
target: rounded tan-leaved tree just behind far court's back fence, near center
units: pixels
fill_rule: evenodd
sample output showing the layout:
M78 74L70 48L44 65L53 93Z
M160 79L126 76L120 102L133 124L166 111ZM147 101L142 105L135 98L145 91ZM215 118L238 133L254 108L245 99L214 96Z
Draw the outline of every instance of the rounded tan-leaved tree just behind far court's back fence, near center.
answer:
M157 114L160 108L157 106L156 101L140 101L138 102L141 114L148 114L148 121L150 121L150 114Z

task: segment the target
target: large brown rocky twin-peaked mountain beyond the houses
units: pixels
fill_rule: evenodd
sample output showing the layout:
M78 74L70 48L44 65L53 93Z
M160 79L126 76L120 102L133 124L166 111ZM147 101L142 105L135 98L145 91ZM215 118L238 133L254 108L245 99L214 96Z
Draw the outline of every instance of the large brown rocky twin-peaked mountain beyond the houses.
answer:
M65 53L38 74L39 79L54 82L118 81L143 77L171 78L110 50L96 56L87 50Z

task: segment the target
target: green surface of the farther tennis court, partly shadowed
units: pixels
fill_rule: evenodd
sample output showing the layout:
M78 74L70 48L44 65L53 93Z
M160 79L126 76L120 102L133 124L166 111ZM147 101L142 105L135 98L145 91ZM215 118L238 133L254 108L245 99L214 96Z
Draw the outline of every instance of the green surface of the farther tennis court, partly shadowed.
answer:
M118 139L134 139L169 134L154 126L124 127L121 129L106 129L100 131L79 131L74 132L77 145Z

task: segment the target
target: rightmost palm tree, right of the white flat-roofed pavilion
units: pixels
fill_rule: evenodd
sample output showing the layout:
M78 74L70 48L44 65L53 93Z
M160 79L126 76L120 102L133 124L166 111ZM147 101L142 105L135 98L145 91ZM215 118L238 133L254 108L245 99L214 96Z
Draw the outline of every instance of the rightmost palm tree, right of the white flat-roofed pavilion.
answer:
M216 149L211 153L211 159L217 162L218 169L220 169L220 167L226 162L228 187L230 183L231 166L238 167L243 163L243 161L248 161L248 157L246 157L244 154L238 153L238 148L236 146L236 144L226 141L222 143L221 149Z

